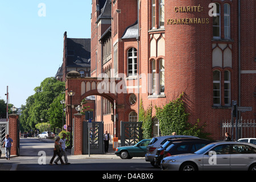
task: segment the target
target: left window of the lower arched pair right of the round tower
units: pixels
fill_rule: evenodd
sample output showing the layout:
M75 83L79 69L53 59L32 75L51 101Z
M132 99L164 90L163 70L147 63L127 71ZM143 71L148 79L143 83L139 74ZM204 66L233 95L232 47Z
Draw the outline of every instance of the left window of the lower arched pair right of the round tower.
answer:
M221 75L220 71L213 71L213 105L221 105Z

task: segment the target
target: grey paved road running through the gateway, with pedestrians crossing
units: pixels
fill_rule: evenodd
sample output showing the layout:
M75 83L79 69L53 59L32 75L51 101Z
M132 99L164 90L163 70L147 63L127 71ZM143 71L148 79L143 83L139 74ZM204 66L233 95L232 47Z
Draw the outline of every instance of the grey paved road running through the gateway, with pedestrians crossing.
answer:
M1 159L8 169L16 171L159 171L144 158L123 160L113 153L102 155L68 156L69 165L49 166L53 155L53 140L37 138L20 139L20 156ZM42 155L46 154L46 155ZM44 158L45 157L45 158ZM0 166L1 166L0 163ZM44 163L44 164L40 164ZM0 168L1 169L1 168Z

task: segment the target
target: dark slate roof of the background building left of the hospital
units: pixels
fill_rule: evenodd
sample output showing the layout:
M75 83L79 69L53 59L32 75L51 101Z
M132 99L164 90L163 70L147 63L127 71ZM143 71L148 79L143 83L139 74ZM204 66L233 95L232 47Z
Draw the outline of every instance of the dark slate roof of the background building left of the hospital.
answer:
M67 38L67 67L90 67L90 39Z

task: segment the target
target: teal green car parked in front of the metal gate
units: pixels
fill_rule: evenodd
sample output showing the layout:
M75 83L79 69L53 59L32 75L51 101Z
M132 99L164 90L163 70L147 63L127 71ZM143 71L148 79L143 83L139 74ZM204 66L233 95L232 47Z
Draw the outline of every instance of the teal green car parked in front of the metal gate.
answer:
M121 159L131 159L133 157L143 157L147 152L147 145L151 139L143 139L134 146L117 147L115 155Z

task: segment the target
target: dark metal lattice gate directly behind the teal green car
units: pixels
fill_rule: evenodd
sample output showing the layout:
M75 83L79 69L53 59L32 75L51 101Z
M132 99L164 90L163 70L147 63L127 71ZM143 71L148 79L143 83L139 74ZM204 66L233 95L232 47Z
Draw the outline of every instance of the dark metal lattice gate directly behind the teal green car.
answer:
M121 146L131 146L142 140L142 122L121 121Z

